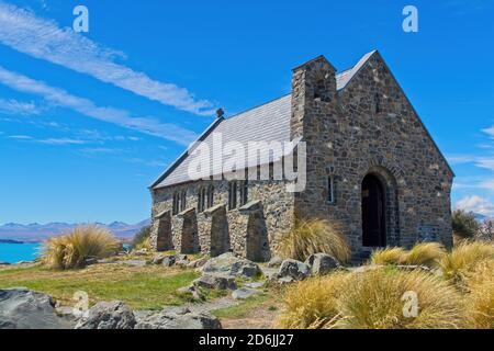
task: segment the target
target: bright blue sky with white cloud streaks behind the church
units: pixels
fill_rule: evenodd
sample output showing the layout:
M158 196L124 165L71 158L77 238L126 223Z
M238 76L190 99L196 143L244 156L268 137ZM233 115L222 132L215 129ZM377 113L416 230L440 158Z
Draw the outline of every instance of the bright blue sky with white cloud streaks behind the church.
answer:
M71 31L89 9L89 33ZM414 4L419 32L402 30ZM138 222L147 186L222 106L290 91L317 55L378 48L457 173L456 206L494 217L494 3L0 0L0 224Z

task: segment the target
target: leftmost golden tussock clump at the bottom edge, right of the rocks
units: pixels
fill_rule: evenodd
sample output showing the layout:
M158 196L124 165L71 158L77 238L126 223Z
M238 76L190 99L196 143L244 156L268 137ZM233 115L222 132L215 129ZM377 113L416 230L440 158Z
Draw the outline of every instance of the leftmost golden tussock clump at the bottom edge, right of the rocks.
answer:
M285 312L276 321L282 329L317 329L338 318L337 297L349 273L335 272L290 286L284 295Z

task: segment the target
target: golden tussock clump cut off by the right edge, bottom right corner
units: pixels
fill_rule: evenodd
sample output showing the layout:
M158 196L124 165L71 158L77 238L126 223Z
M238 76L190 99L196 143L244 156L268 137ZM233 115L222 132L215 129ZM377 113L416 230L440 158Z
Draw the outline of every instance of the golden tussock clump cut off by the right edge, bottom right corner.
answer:
M471 328L494 329L494 260L480 263L467 274L467 313Z

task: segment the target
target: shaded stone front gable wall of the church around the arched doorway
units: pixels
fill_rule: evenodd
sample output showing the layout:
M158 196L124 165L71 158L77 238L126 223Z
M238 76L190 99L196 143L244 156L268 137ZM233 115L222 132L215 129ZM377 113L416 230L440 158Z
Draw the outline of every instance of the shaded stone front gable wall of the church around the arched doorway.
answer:
M314 93L321 77L330 90L325 99ZM353 252L366 250L361 182L372 173L385 188L388 245L451 245L453 176L378 53L338 93L324 58L294 70L292 91L292 133L307 143L307 189L295 197L297 213L343 224ZM335 203L327 202L328 177Z

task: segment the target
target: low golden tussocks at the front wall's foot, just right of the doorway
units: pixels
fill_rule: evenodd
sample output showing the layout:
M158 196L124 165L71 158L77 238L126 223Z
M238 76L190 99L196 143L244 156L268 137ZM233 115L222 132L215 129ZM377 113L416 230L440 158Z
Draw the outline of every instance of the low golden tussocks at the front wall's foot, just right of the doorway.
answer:
M372 252L370 262L373 264L406 264L435 268L445 257L446 249L438 242L420 242L409 250L402 248L385 248Z

